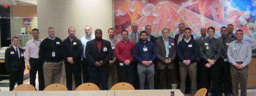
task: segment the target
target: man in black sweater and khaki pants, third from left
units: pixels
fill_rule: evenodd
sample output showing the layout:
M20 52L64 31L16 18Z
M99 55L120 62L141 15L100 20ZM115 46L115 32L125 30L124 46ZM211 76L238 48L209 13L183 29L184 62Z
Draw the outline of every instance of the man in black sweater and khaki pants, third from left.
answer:
M39 48L39 58L43 63L45 87L50 84L59 83L63 62L61 57L61 39L55 37L55 29L52 27L48 28L48 35L49 37L42 41Z

